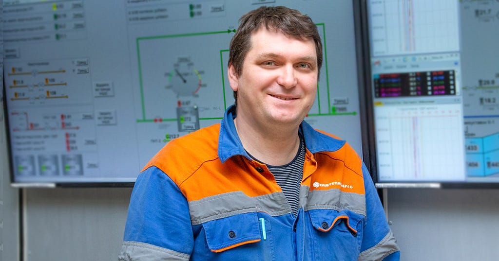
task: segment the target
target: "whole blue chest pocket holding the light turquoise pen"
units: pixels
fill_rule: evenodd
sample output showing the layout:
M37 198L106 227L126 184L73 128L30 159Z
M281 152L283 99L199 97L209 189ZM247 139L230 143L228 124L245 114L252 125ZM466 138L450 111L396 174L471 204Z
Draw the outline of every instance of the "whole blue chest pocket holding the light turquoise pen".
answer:
M256 213L234 215L203 223L210 260L273 260L267 234L262 241L261 221Z

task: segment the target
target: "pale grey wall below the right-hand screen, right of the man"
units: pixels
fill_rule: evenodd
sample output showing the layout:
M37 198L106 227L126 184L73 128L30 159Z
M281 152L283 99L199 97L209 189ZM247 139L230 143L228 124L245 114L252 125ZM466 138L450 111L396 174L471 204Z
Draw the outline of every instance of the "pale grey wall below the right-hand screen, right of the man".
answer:
M391 189L403 261L499 260L499 189Z

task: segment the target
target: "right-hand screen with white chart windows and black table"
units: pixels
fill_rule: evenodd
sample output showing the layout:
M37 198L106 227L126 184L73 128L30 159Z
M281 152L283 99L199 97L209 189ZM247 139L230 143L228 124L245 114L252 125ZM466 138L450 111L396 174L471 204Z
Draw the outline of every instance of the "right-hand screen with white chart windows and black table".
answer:
M499 0L367 9L379 187L498 183Z

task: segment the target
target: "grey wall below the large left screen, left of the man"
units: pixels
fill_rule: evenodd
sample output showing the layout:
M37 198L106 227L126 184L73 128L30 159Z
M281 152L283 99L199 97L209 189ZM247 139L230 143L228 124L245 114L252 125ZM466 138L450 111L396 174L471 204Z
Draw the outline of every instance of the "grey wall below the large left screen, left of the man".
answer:
M116 260L131 190L27 189L26 261Z

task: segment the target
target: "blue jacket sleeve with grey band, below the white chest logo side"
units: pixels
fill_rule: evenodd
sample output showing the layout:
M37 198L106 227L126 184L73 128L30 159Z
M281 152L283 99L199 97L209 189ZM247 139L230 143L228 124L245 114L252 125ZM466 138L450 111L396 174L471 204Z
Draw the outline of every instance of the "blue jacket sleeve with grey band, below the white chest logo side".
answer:
M366 225L362 240L360 260L397 261L400 250L388 227L385 212L366 166L362 165L366 192Z

